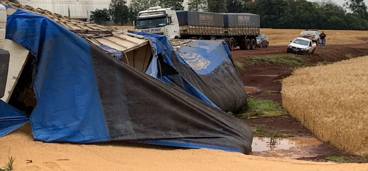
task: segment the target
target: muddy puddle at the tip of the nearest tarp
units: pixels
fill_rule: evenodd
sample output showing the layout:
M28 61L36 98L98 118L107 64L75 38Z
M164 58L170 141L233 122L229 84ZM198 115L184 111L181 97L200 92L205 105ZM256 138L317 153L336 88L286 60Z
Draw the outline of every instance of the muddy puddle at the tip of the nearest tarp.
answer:
M289 150L293 147L301 148L318 144L322 144L322 142L315 138L276 138L271 141L270 138L254 137L252 143L252 151L263 152L271 150Z

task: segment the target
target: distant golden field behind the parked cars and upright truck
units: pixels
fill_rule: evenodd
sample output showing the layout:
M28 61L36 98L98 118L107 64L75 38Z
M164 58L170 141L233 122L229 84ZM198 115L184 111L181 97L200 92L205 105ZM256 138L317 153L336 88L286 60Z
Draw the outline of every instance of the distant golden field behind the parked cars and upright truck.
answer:
M128 30L134 30L133 26L113 26ZM267 35L270 45L288 45L290 41L299 37L302 29L272 29L261 28L260 32ZM368 31L354 30L319 30L326 33L326 44L350 44L366 43L368 41Z

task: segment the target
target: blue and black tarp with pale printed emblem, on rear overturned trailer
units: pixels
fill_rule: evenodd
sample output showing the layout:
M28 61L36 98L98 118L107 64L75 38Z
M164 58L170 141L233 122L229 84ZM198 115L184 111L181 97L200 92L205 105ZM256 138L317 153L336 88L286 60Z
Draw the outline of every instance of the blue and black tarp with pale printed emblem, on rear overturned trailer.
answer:
M176 74L163 74L165 83L180 85L187 93L226 112L237 112L245 106L247 94L244 84L229 47L223 41L197 40L174 51L165 36L131 33L159 40L156 43L159 45L157 54L165 51L163 62L177 71Z

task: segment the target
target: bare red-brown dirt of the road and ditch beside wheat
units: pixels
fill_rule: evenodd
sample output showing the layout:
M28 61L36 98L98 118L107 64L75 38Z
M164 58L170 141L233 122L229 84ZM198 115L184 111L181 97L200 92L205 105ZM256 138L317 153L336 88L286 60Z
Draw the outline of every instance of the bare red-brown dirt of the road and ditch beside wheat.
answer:
M247 65L249 57L287 54L286 46L270 46L268 48L259 48L256 50L234 50L232 51L233 59L242 63L246 69L239 69L241 79L244 86L256 87L258 92L248 92L248 96L273 100L281 104L281 80L291 75L292 68L286 65L277 64L262 64L257 63ZM345 45L327 45L325 48L317 48L315 54L303 56L305 64L302 66L313 66L318 62L338 62L354 57L368 55L368 43L361 44L345 44ZM301 66L296 66L301 67ZM267 90L267 91L265 91ZM271 93L270 93L271 92ZM313 133L302 126L300 122L290 117L289 115L270 117L270 118L256 118L243 119L250 127L257 127L264 125L270 130L277 130L283 133L293 134L296 136L315 137ZM322 161L325 156L343 155L344 152L332 147L328 143L323 143L316 147L319 156L315 158L301 158L302 160Z

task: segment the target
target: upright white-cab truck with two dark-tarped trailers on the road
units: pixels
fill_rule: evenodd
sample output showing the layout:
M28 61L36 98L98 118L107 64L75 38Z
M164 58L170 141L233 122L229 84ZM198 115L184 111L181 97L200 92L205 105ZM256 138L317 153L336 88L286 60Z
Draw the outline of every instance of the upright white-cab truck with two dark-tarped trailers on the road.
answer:
M224 40L230 50L255 49L260 16L250 13L210 13L150 7L140 11L133 25L138 32L168 39Z

